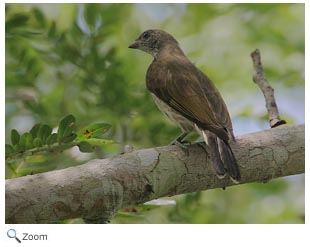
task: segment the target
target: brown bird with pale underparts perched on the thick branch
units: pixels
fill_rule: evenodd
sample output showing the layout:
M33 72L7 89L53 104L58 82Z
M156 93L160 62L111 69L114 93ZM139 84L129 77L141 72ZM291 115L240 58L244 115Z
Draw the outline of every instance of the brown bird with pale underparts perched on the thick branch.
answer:
M209 146L215 175L227 174L234 183L241 179L229 142L235 142L227 106L211 79L184 54L178 41L160 29L144 31L128 48L149 53L146 86L158 108L181 130L173 144L197 131Z

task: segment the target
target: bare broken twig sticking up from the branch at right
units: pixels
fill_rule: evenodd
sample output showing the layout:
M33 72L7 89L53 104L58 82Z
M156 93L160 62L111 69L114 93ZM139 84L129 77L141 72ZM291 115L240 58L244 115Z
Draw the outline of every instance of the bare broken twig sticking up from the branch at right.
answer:
M279 125L286 124L285 120L280 119L278 106L274 97L274 89L270 86L269 82L265 78L259 50L256 49L253 51L251 53L251 57L254 66L253 81L260 87L264 94L266 108L269 115L270 127L274 128Z

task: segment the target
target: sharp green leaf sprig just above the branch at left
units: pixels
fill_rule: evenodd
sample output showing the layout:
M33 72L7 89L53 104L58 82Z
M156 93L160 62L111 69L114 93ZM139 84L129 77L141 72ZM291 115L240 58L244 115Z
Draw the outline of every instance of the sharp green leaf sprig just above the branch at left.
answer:
M76 129L75 117L67 115L58 126L57 133L52 133L53 128L47 124L35 124L29 132L22 135L16 129L11 131L11 145L5 144L5 156L9 163L16 162L19 159L34 155L46 155L51 153L60 153L64 150L78 146L81 152L93 152L95 146L104 147L104 145L113 143L111 140L98 139L101 135L110 130L111 125L106 123L92 124ZM40 160L42 156L37 156ZM35 157L32 161L34 162Z

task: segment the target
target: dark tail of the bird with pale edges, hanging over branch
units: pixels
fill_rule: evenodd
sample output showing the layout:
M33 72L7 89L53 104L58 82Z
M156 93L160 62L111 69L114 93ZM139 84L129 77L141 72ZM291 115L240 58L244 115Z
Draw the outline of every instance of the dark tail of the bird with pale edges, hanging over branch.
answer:
M228 174L234 183L239 183L241 178L239 167L228 142L207 130L202 132L210 149L211 162L215 174L219 178L223 178Z

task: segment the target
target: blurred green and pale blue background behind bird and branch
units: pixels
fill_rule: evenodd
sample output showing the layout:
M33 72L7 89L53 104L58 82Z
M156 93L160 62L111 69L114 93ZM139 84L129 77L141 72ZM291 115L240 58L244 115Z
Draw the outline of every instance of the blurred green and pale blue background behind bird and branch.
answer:
M117 141L93 154L73 149L45 162L8 164L6 178L109 157L126 144L167 145L180 133L145 87L151 56L127 48L149 28L173 34L212 78L236 136L269 128L263 95L252 82L250 53L256 48L281 117L304 123L304 17L304 4L6 4L6 143L12 128L29 131L37 122L56 127L69 113L79 127L112 124L104 137ZM304 176L162 204L127 208L112 223L304 223Z

